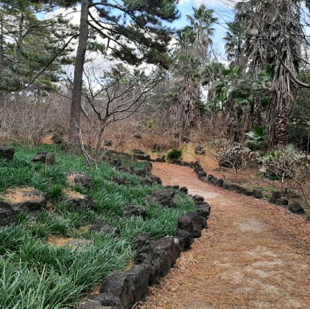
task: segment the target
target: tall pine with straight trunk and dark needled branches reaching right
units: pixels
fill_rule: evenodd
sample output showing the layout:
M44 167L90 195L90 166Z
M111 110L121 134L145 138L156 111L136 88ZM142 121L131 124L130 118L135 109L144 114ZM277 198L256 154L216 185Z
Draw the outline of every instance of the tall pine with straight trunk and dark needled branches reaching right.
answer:
M70 121L73 145L78 144L83 66L91 33L95 32L105 40L106 51L111 57L132 65L147 62L167 68L172 31L166 24L178 17L176 3L175 0L81 1Z

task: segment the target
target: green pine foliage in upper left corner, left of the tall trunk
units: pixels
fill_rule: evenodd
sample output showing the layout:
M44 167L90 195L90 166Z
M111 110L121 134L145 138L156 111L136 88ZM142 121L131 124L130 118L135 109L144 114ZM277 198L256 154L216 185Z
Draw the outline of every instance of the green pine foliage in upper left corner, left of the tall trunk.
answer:
M30 0L5 1L0 6L1 90L55 88L61 65L71 62L69 50L62 49L74 30L65 19L44 19L51 9Z

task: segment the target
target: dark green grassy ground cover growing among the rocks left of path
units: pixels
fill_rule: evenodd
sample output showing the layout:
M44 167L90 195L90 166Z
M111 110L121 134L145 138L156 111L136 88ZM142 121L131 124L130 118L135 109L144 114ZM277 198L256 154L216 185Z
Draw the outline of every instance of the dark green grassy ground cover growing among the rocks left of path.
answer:
M54 152L56 165L47 166L31 161L38 151ZM123 159L123 164L132 162ZM133 162L144 168L143 162ZM63 201L66 174L72 170L93 177L93 189L74 187L93 196L93 211L70 211ZM0 161L0 194L8 187L33 186L47 192L54 213L43 211L34 221L21 215L18 225L0 229L0 309L64 309L71 308L83 295L92 291L115 270L124 269L135 254L134 240L139 232L150 232L153 239L177 229L177 219L195 209L193 201L176 195L173 209L148 204L146 197L153 187L141 186L138 178L121 173L108 164L99 169L87 167L81 156L67 154L58 147L41 146L25 150L16 146L12 162ZM110 180L114 175L125 177L134 186L117 185ZM147 208L145 219L122 216L126 203ZM120 237L91 232L88 226L97 218L120 229ZM93 240L93 245L71 248L47 244L48 237L81 237Z

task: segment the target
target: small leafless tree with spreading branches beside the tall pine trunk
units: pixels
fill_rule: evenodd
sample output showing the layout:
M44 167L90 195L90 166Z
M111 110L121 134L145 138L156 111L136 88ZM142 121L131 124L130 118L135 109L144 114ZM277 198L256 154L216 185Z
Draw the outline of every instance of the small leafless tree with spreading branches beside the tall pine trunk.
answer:
M100 78L97 77L98 74ZM82 111L88 121L95 120L95 154L101 148L107 125L128 119L140 112L143 106L151 105L157 94L155 86L167 78L160 71L152 71L146 75L139 70L131 72L123 65L100 73L91 65L84 70L84 75L87 77L88 87L82 94L88 105L82 105Z

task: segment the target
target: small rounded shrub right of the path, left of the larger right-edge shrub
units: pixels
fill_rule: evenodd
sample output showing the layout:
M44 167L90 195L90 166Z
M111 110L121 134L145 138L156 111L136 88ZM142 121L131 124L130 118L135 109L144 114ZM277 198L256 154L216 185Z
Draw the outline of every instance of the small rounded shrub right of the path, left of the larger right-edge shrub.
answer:
M252 152L248 147L239 143L234 143L222 152L216 154L219 167L233 168L238 173L248 167L249 162L254 161L257 154Z

